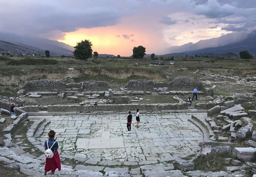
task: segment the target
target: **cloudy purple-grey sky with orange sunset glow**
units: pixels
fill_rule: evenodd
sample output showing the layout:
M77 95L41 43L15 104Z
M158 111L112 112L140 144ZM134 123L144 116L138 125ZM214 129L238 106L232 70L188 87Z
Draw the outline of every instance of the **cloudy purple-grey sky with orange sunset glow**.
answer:
M171 46L256 29L255 0L1 0L0 31L99 54L168 53Z

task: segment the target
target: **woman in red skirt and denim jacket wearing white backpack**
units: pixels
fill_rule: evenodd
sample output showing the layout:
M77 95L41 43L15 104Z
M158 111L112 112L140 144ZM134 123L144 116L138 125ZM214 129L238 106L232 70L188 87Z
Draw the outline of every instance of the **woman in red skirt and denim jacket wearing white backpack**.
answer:
M49 172L50 170L51 170L51 174L54 174L54 172L57 168L60 171L60 156L59 156L59 152L57 151L59 146L58 146L58 143L55 142L55 140L54 140L55 132L53 130L50 130L48 133L48 136L49 136L49 139L44 142L44 149L47 150L48 147L50 148L53 144L53 146L51 148L51 150L53 152L53 157L46 158L46 163L45 163L45 167L44 167L44 175L46 175L46 173ZM48 143L48 146L47 146L47 143Z

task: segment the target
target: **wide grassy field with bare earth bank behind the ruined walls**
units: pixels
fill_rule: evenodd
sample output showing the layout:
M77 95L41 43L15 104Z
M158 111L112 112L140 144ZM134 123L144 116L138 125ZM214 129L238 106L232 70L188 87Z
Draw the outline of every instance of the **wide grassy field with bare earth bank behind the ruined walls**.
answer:
M59 79L66 83L88 80L107 81L113 88L124 86L131 79L151 79L168 82L178 76L201 81L227 81L214 89L216 95L231 95L232 92L248 92L251 88L236 85L226 77L255 76L256 60L236 58L163 58L162 66L148 66L150 58L90 58L76 60L72 57L4 57L0 56L0 94L15 96L15 87L29 80ZM138 63L138 64L136 64ZM69 70L68 68L74 68ZM212 78L211 75L220 75ZM231 86L231 87L230 87Z

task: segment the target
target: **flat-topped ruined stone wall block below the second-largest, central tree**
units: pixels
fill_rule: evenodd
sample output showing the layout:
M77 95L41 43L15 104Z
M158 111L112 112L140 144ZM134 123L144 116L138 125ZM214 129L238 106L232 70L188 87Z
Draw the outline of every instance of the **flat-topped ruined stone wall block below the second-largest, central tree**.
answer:
M127 84L127 90L154 92L154 81L153 80L131 80Z

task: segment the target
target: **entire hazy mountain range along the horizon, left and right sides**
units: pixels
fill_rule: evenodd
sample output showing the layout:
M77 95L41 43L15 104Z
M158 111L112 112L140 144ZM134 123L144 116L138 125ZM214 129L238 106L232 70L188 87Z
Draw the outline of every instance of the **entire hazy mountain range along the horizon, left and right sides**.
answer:
M157 57L170 56L225 56L237 57L239 52L248 50L252 55L256 55L256 30L251 33L235 32L229 33L219 38L200 40L196 43L189 42L181 46L172 46L166 49L164 55L156 55ZM1 50L11 52L12 54L41 54L44 55L45 50L49 50L51 55L72 56L74 48L68 44L48 39L24 37L12 33L0 32L0 54ZM114 57L111 54L99 54L102 57ZM150 57L146 54L144 57Z

